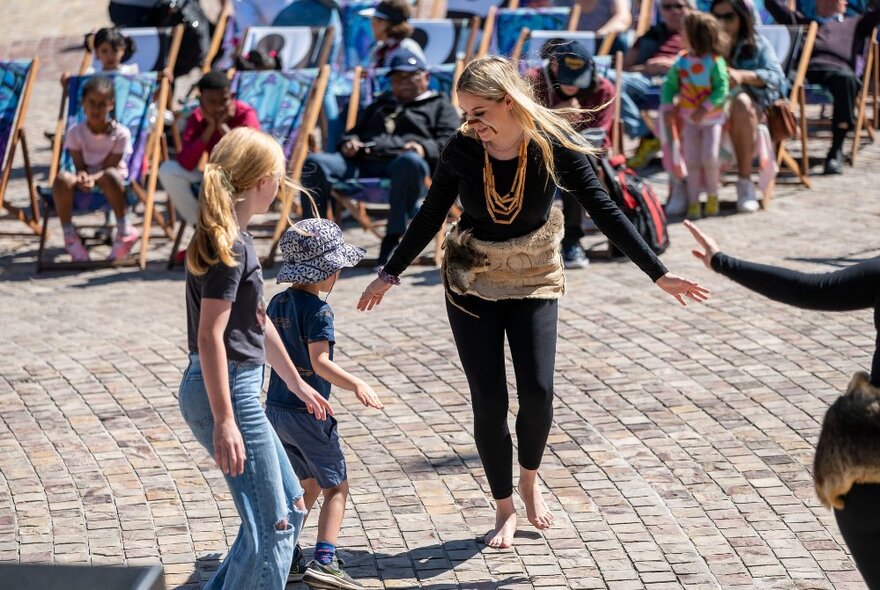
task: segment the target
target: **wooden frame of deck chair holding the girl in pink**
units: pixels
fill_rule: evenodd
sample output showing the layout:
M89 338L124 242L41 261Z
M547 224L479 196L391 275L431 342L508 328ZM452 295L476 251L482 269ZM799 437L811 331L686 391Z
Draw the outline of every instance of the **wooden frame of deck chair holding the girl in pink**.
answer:
M161 137L162 133L165 130L164 105L168 102L170 90L171 86L168 78L162 78L159 83L159 99L156 101L156 123L152 131L150 131L150 136L147 138L147 146L145 148L145 157L149 158L149 169L147 170L146 175L146 186L136 181L131 182L132 190L134 191L135 195L137 195L138 200L144 204L143 228L141 230L141 251L138 254L138 257L135 259L129 256L125 260L116 260L112 262L100 260L93 260L89 262L55 262L43 260L43 252L46 246L46 238L48 236L50 217L49 212L47 211L46 215L43 217L43 228L40 235L40 247L37 252L37 272L55 269L84 270L91 268L133 265L139 266L141 270L146 268L147 255L149 254L148 248L150 245L151 237L150 229L152 227L154 215L157 217L157 223L160 225L160 227L163 228L164 233L166 233L167 235L167 224L164 223L162 216L155 211L154 198L156 194L156 184L159 180L159 158L161 155L161 142L158 141L157 138ZM61 98L61 102L66 103L68 100L69 97L67 96L67 93L64 93ZM49 166L48 180L48 184L50 187L55 183L55 177L58 175L58 171L61 167L61 144L67 118L67 109L65 107L66 104L62 104L61 112L64 120L59 121L56 125L56 129L60 129L61 132L55 134L55 138L52 142L52 163Z

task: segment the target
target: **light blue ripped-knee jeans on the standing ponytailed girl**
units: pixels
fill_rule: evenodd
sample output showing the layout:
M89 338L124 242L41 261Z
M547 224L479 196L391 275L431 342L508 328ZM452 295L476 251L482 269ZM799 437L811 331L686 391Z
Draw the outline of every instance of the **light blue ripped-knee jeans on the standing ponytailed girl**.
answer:
M206 590L284 588L302 530L305 513L295 508L294 502L303 490L260 405L262 388L263 365L229 363L232 410L244 439L245 462L244 473L227 475L226 484L241 517L241 528ZM213 457L214 415L197 354L189 355L178 397L187 426ZM277 529L285 520L287 527Z

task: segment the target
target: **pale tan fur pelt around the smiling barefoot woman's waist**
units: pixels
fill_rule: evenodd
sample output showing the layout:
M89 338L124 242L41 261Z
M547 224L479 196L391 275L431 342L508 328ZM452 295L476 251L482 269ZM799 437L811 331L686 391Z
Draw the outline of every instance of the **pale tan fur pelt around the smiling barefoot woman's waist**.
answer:
M559 251L564 231L556 207L535 231L503 242L478 240L456 224L444 243L444 284L453 293L488 301L558 299L565 292Z

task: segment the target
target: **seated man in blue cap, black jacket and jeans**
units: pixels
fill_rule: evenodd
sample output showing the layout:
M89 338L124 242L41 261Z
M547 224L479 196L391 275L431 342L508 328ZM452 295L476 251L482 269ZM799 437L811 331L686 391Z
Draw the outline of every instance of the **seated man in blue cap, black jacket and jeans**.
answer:
M305 217L327 210L334 182L347 178L389 178L391 211L379 264L406 230L417 210L428 176L440 151L461 122L449 99L428 90L425 62L400 49L391 58L391 92L382 94L358 114L357 123L342 137L339 153L311 154L303 166L303 185L318 206L303 202Z

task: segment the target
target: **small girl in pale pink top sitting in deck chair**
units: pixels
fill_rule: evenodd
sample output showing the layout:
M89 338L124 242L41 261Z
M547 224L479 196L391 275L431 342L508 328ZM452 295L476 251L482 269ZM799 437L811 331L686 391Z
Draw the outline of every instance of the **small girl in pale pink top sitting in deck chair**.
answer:
M111 118L115 103L113 81L94 76L83 87L82 106L86 120L67 131L64 145L70 153L75 173L59 172L52 185L55 209L64 230L64 249L74 262L89 259L72 215L77 195L88 195L97 187L116 214L116 237L108 260L124 258L137 242L139 232L129 221L125 203L128 180L127 159L132 152L131 132Z

